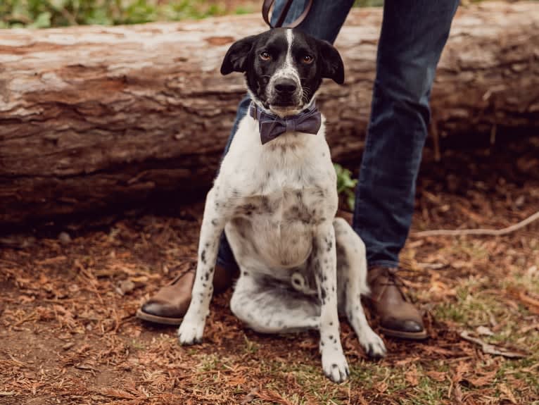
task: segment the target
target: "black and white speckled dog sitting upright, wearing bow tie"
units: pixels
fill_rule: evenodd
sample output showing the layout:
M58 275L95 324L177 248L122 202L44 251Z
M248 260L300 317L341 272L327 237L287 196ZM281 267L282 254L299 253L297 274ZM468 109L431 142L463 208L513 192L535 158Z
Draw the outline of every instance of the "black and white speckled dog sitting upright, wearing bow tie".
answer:
M323 77L344 82L343 61L328 42L275 28L232 44L221 73L232 72L246 73L253 105L206 198L196 280L179 342L202 339L224 230L241 270L232 312L258 332L319 330L324 374L342 382L349 371L338 313L348 317L367 354L386 354L360 302L369 291L364 244L335 218L336 174L314 107ZM306 128L318 117L314 135L297 129L301 114L310 117ZM262 133L268 132L265 125L272 132L279 120L284 133Z

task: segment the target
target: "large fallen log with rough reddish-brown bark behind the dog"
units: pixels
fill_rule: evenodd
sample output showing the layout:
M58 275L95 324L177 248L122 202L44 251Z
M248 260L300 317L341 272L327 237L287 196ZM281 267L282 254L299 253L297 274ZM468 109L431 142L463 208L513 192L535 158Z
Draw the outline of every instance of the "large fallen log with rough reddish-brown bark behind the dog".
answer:
M335 161L360 154L381 9L336 46L346 84L319 107ZM259 15L124 27L0 30L0 223L88 213L210 185L245 92L220 63ZM437 137L539 124L536 3L461 7L431 96Z

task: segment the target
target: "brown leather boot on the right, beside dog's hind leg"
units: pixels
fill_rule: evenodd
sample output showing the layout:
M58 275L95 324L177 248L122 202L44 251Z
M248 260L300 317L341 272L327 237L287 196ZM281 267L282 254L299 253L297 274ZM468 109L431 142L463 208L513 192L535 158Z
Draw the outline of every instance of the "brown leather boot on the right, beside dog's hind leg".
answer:
M401 339L426 339L421 313L402 292L397 268L372 267L367 273L371 308L380 318L384 335Z

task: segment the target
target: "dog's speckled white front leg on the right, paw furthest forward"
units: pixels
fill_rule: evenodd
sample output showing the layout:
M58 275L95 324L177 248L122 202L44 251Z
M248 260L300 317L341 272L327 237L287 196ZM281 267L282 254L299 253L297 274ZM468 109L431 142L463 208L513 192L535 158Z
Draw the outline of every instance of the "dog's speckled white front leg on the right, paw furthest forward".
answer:
M331 222L320 225L315 235L314 270L320 309L320 353L324 374L334 382L348 378L348 363L341 346L337 313L337 255Z

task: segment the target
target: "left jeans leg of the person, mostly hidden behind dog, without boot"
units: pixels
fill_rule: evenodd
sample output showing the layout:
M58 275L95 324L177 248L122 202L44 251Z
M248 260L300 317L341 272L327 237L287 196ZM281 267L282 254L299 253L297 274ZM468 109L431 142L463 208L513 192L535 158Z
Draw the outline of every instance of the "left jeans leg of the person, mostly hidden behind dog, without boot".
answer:
M275 23L277 16L281 13L281 9L284 6L283 0L277 0L275 3L274 13L271 19L272 24ZM293 20L296 20L298 15L303 13L306 3L307 0L293 1L288 10L288 15L286 15L286 20L284 20L285 26ZM309 14L298 28L307 32L307 34L312 35L312 37L324 39L325 41L333 43L353 4L354 0L314 1ZM331 18L328 18L329 15L331 15ZM232 126L227 146L224 148L224 155L227 154L232 139L234 139L239 122L247 114L249 104L251 104L251 99L249 96L245 96L238 105L236 120ZM236 271L236 268L238 268L236 260L234 259L234 254L232 254L232 249L230 249L229 243L227 242L227 237L224 236L224 232L221 235L219 254L217 255L217 265L227 269L227 272Z

